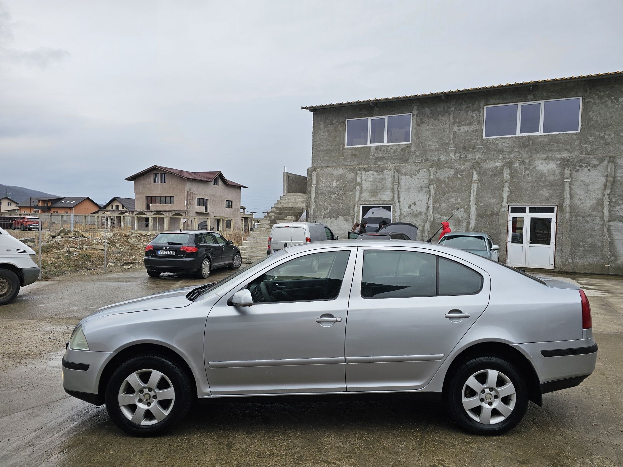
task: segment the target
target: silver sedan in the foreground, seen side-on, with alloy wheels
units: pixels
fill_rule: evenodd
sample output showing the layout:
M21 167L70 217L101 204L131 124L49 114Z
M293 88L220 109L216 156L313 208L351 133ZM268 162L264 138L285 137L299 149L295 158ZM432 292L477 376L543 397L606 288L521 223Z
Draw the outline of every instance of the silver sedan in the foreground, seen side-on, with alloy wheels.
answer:
M171 428L195 397L386 392L440 395L459 427L496 434L580 384L596 352L576 285L444 245L338 240L100 308L62 368L65 391L136 435Z

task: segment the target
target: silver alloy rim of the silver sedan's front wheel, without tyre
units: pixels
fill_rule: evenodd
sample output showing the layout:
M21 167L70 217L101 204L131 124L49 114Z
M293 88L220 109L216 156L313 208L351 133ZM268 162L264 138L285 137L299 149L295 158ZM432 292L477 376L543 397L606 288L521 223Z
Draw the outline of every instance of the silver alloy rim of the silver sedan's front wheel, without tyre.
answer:
M157 370L144 369L128 375L118 395L121 413L136 425L162 422L175 403L171 380Z

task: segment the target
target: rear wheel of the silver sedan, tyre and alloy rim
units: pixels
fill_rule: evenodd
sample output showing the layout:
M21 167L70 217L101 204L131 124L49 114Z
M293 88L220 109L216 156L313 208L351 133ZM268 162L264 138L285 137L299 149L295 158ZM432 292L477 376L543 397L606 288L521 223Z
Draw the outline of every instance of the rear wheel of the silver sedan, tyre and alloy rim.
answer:
M498 356L464 362L444 390L450 418L477 435L501 435L516 427L528 408L528 390L521 372Z

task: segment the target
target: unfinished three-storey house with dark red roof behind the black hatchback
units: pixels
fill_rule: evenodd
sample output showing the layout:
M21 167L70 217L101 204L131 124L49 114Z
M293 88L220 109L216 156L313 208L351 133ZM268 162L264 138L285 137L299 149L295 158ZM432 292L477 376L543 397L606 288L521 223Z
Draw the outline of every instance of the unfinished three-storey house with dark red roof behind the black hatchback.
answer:
M134 182L134 214L140 216L141 229L223 231L243 227L240 191L246 187L227 180L220 171L151 166L126 180Z

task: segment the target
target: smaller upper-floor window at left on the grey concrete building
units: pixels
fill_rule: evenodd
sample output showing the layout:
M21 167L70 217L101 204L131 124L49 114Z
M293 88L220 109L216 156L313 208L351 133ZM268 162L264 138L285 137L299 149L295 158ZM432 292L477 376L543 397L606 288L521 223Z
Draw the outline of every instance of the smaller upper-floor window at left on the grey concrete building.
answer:
M411 114L346 120L346 146L411 143Z

